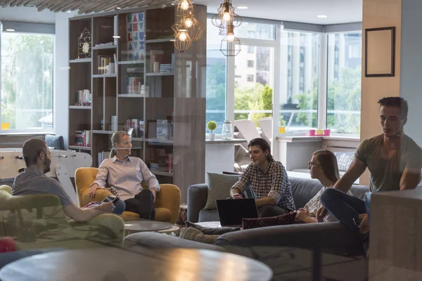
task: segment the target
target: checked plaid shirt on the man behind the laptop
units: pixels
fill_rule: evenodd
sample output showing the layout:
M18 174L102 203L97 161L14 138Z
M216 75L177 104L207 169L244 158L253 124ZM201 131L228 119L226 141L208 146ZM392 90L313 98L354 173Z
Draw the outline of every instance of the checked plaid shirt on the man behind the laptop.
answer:
M271 197L278 207L289 211L296 209L287 172L281 162L269 162L265 172L262 172L259 166L250 164L231 189L236 188L242 193L247 186L255 192L257 199Z

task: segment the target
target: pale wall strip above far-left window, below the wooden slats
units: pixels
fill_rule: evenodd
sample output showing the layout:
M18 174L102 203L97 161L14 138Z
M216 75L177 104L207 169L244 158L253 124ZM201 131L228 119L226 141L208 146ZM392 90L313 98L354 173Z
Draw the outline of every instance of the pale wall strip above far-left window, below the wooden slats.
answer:
M54 24L56 22L56 15L55 13L50 12L49 10L39 12L37 11L37 8L0 8L0 20Z

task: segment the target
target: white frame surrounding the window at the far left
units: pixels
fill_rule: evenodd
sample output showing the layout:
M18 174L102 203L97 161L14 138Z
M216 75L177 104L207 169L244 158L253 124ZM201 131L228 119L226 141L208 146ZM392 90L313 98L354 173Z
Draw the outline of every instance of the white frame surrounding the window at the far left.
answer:
M34 134L34 133L55 133L56 132L56 123L54 122L56 115L56 96L54 93L54 77L55 77L55 53L56 53L56 25L53 24L44 24L36 22L13 22L8 20L0 21L0 30L1 32L7 32L7 29L15 30L15 34L40 34L40 35L52 35L53 36L53 76L51 79L51 95L52 95L52 108L51 113L53 115L53 128L49 129L1 129L0 127L0 136L1 135L25 135L25 134ZM1 34L0 34L0 65L1 65ZM1 78L1 67L0 67L0 78ZM0 100L1 100L1 79L0 79ZM1 107L0 107L0 123L1 123Z

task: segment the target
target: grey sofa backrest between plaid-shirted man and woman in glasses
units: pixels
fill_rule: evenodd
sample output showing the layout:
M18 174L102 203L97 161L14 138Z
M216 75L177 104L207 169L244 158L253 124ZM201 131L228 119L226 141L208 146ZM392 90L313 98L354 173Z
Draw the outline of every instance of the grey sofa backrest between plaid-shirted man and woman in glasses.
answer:
M322 188L321 183L314 179L289 177L288 180L292 186L296 209L304 207Z

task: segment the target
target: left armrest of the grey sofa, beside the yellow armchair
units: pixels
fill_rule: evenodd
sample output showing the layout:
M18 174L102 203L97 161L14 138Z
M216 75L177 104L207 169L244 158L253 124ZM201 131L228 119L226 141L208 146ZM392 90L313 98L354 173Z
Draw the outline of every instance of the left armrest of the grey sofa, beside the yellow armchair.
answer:
M188 221L198 223L199 211L205 207L208 198L206 183L188 187Z

